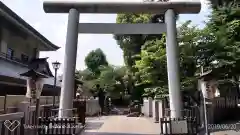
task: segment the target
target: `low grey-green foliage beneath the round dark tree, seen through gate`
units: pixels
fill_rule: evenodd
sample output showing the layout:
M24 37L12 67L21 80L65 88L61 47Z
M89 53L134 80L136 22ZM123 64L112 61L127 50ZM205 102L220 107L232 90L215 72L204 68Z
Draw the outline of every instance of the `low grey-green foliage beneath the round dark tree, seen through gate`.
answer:
M111 96L120 96L125 91L127 81L124 80L126 68L114 66L100 66L99 75L96 76L88 69L76 71L76 77L84 82L84 88L96 93L96 84L100 84L101 88Z

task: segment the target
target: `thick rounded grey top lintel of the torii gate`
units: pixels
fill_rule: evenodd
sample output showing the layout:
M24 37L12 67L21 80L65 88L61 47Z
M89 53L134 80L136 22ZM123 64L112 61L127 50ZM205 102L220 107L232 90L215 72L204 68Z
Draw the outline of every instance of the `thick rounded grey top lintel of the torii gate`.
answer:
M169 0L168 2L141 2L140 1L97 1L97 0L48 0L43 2L46 13L69 13L75 8L79 13L151 13L160 14L168 9L174 9L178 14L199 13L199 0Z

